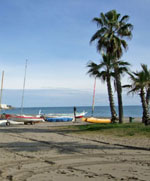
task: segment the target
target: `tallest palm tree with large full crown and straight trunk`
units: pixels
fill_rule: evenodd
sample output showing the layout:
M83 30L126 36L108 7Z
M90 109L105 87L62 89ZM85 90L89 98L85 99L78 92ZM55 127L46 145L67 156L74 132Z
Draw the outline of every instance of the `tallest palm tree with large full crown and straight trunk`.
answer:
M116 10L111 10L106 14L101 13L100 17L93 19L100 27L92 36L90 42L97 40L97 51L106 53L114 57L113 61L117 62L123 54L123 49L127 49L127 43L124 38L132 37L131 30L133 26L126 23L129 16L125 15L122 18ZM118 67L115 67L115 79L119 106L119 122L123 122L123 105L122 105L122 87Z

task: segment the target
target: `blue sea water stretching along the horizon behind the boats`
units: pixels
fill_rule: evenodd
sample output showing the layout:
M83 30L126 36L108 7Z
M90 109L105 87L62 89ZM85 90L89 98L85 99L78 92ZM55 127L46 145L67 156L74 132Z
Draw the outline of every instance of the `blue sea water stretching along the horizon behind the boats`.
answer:
M77 112L85 111L87 112L86 116L91 116L92 107L91 106L82 106L76 107ZM73 113L73 107L26 107L23 109L24 114L37 115L41 110L44 114L58 113L58 114L71 114ZM3 110L1 113L9 114L20 114L21 109L15 108L12 110ZM94 109L95 117L110 117L110 108L109 106L95 106ZM124 106L124 117L142 117L142 107L141 106Z

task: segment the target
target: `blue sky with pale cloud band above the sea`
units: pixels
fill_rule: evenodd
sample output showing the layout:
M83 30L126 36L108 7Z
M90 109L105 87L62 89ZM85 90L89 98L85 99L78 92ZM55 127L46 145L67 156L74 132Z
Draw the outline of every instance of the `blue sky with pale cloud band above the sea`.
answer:
M97 31L92 19L112 9L129 15L134 26L122 60L132 70L150 66L150 0L0 0L2 103L20 106L27 59L24 106L91 105L94 79L86 65L101 60L96 44L89 43ZM123 96L125 105L140 104L137 96ZM100 81L95 104L109 104Z

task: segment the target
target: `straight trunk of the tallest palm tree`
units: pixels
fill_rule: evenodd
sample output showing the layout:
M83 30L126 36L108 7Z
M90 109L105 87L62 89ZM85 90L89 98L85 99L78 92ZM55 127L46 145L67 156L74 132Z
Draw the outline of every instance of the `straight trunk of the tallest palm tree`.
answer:
M118 98L119 123L123 123L122 87L120 81L120 74L118 73L117 67L115 68L115 80L116 80L117 98Z

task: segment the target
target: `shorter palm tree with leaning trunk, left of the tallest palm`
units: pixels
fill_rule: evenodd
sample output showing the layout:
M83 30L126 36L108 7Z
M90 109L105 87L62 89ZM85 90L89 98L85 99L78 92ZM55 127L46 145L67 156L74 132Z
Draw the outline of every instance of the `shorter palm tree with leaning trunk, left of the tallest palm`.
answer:
M96 64L94 62L88 63L87 67L89 68L88 74L90 76L94 76L95 78L101 79L102 82L107 82L107 90L108 90L108 97L109 97L109 104L110 104L110 111L111 111L111 121L115 122L117 120L117 114L115 111L114 99L113 99L113 92L111 86L111 76L114 76L113 70L113 63L111 59L107 55L103 55L103 60L100 64Z

